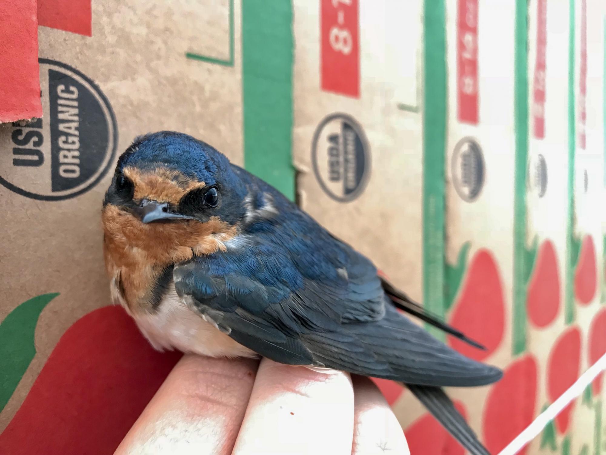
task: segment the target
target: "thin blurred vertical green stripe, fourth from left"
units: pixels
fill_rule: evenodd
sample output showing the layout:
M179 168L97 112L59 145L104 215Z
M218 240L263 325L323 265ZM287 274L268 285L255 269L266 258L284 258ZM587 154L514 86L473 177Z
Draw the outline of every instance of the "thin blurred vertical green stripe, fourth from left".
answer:
M570 0L568 25L568 219L566 226L566 294L564 296L564 320L574 321L574 263L573 220L574 220L574 153L576 152L576 118L574 115L574 0Z

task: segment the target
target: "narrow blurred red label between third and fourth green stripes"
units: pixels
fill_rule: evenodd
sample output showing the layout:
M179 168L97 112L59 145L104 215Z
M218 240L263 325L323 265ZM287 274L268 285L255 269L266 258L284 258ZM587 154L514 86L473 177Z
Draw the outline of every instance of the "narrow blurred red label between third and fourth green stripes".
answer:
M547 49L547 0L537 2L536 61L534 62L534 137L545 138L545 50Z

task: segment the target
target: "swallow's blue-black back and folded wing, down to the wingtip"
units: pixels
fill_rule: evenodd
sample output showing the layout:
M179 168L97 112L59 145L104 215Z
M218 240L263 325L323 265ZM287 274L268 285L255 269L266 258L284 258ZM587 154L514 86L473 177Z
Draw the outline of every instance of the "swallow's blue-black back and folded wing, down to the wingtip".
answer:
M399 314L375 266L270 186L238 170L271 216L242 221L226 252L176 265L178 294L244 346L277 362L431 386L494 382Z

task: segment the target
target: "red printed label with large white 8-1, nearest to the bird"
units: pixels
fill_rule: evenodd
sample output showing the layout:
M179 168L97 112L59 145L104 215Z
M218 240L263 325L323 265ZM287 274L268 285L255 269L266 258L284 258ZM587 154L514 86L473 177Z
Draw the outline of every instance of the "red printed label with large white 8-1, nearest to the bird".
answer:
M359 0L321 0L322 90L360 96Z

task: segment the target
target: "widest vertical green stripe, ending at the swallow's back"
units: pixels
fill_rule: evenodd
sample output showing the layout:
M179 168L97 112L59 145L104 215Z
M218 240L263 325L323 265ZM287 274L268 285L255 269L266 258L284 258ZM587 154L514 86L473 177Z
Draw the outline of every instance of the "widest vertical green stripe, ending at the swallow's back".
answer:
M244 166L290 200L295 199L292 22L290 1L242 2Z

